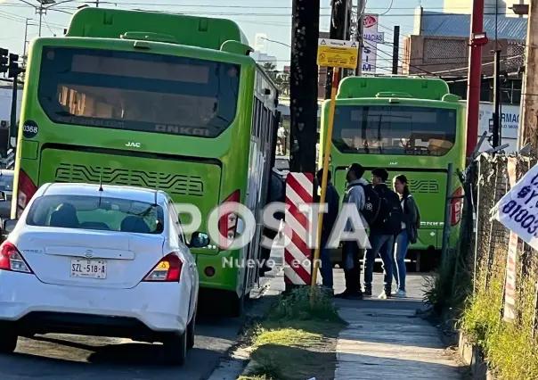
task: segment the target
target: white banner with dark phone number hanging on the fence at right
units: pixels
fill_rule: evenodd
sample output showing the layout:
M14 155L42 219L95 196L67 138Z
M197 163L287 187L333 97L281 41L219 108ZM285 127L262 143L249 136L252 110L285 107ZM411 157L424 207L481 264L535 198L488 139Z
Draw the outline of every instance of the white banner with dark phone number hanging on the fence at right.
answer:
M493 217L538 250L538 165L493 207Z

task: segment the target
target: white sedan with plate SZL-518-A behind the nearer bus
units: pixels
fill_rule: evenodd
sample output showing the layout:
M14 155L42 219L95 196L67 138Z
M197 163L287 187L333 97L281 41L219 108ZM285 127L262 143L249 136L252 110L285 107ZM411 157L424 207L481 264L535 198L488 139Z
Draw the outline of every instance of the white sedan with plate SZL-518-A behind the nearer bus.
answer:
M194 344L199 277L174 203L162 191L41 186L0 246L0 352L19 335L161 342L181 365Z

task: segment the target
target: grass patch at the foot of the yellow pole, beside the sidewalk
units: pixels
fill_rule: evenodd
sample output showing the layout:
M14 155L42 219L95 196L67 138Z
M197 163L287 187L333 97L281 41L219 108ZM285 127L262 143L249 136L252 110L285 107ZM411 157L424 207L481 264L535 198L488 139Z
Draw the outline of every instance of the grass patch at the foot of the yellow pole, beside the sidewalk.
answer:
M257 367L240 380L332 379L336 367L336 338L346 323L331 298L298 288L274 303L252 330L252 359Z

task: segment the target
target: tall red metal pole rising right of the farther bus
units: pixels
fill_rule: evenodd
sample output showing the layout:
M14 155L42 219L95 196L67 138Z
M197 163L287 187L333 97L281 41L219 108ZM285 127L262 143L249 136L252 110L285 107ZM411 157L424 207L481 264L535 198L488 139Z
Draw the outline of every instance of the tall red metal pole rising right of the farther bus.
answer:
M469 87L467 91L467 157L478 142L478 113L482 87L482 47L487 43L484 34L484 0L473 1L469 52Z

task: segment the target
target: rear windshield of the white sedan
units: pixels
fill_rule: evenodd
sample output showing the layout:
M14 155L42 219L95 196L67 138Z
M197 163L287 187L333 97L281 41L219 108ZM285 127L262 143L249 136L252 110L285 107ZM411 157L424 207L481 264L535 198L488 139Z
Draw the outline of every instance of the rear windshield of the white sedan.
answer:
M38 227L160 234L164 217L159 205L146 202L86 195L44 195L32 204L26 223Z

